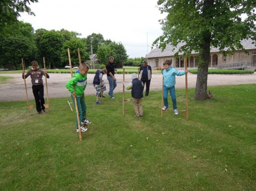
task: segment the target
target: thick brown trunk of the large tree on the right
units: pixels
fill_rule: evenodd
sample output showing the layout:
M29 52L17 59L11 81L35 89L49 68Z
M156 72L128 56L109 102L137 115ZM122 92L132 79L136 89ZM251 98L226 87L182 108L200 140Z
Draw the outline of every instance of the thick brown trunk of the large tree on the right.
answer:
M210 20L212 17L211 8L214 5L214 0L205 0L203 3L202 16L204 19ZM199 64L196 78L195 100L206 100L207 97L207 78L208 66L210 60L210 45L211 45L211 31L207 30L202 32L203 41L199 44Z

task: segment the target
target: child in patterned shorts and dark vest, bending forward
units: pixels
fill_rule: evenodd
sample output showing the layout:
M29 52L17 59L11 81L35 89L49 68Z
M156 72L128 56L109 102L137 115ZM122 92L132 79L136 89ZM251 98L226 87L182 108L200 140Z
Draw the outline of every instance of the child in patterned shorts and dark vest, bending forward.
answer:
M97 70L95 72L95 76L94 76L94 79L93 79L93 86L96 89L96 101L95 101L95 104L100 104L99 97L101 96L101 92L102 92L102 97L105 98L105 96L103 95L103 91L106 91L106 86L103 83L102 76L104 74L106 74L106 73L107 73L107 69L106 68L104 68L102 70Z

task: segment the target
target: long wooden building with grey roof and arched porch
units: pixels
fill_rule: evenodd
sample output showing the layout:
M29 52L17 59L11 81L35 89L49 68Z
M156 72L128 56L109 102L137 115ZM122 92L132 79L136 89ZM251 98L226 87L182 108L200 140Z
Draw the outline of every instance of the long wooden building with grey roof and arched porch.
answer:
M211 48L211 62L209 63L209 68L219 68L219 69L255 69L256 68L256 46L252 44L254 41L242 40L241 44L243 47L249 51L249 55L245 53L243 50L236 50L233 55L227 56L226 58L223 56L222 52L219 51L218 48ZM179 58L175 60L174 54L178 51L178 49L185 45L185 43L179 43L177 47L172 45L167 45L164 51L162 52L161 48L155 48L151 50L147 55L148 64L152 68L161 67L162 63L170 59L172 60L173 67L176 68L184 68L184 60L181 60L183 52L179 52ZM174 48L174 50L172 50ZM187 60L189 68L197 68L198 59L195 57L198 55L198 52L192 51L189 58Z

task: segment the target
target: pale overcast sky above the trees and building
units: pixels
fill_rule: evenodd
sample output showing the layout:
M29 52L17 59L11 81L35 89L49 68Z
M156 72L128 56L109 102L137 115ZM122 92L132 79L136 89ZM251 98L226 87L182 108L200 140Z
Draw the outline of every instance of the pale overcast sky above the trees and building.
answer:
M30 5L36 16L22 13L19 20L37 30L75 31L87 37L100 33L121 42L129 57L145 57L153 41L162 35L163 19L157 0L39 0ZM147 45L149 47L147 47Z

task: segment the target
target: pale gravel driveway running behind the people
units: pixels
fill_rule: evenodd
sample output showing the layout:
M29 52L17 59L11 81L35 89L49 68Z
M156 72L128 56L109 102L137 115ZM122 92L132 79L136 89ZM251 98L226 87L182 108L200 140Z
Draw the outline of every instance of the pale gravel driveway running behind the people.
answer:
M48 95L49 98L57 97L69 97L70 93L65 87L66 82L70 79L70 74L61 73L49 73L50 78L47 79L48 84ZM22 79L22 74L0 74L0 76L11 76L14 77L10 79L6 84L0 84L0 102L4 101L22 101L26 100L25 84ZM117 87L114 90L114 94L117 92L122 92L122 80L123 74L116 74ZM93 87L93 77L94 74L88 74L88 83L85 89L85 95L96 95L95 88ZM188 87L194 88L196 86L196 74L188 73ZM43 78L44 79L44 78ZM108 92L109 85L107 76L103 76L104 83L107 87ZM45 80L44 80L45 81ZM129 83L131 81L131 74L125 74L125 82ZM223 74L209 74L208 75L208 86L223 86L223 85L237 85L237 84L252 84L256 83L256 73L254 74L244 74L244 75L223 75ZM31 78L26 79L28 97L30 100L34 99L32 93ZM176 88L185 88L185 75L176 76ZM162 89L162 75L153 74L150 84L150 91L156 91ZM125 90L126 92L130 92ZM144 89L145 91L145 89ZM149 92L150 96L150 92ZM46 91L45 91L46 97Z

